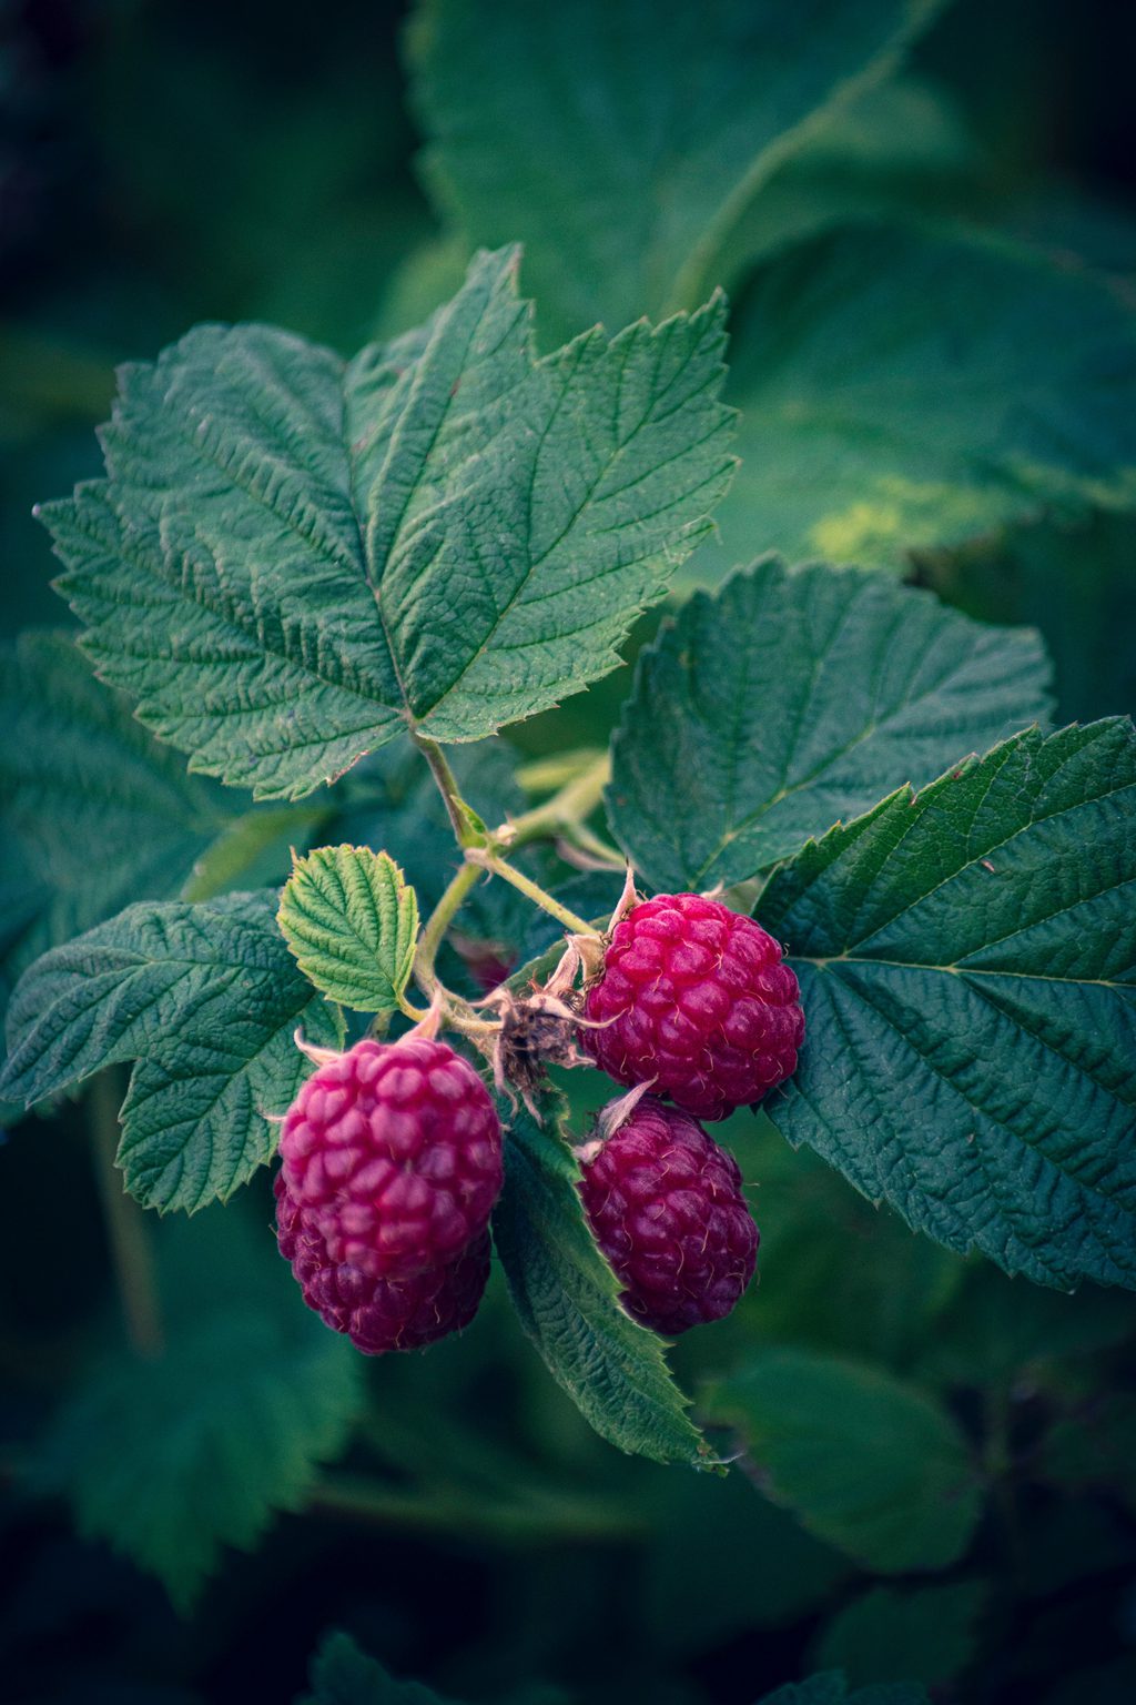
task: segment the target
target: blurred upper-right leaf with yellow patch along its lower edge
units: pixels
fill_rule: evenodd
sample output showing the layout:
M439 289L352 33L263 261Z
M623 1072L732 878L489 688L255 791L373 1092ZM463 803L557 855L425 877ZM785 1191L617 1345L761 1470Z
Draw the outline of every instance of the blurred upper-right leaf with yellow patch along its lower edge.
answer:
M961 232L836 232L736 305L741 472L720 578L777 549L863 568L1136 491L1136 321L1087 271Z

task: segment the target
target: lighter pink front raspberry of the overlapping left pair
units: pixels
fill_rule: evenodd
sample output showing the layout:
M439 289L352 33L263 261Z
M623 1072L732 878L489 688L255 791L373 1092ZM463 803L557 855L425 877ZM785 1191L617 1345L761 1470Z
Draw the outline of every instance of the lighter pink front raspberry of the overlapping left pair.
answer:
M455 1260L501 1194L501 1122L445 1042L356 1042L300 1089L283 1176L334 1265L404 1280Z

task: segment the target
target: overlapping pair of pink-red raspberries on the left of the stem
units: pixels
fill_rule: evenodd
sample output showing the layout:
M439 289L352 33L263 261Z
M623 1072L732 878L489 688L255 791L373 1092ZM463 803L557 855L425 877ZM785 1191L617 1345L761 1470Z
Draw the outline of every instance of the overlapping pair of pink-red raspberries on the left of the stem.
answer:
M279 1151L279 1250L329 1326L382 1355L468 1325L502 1163L467 1061L422 1035L358 1042L303 1084Z

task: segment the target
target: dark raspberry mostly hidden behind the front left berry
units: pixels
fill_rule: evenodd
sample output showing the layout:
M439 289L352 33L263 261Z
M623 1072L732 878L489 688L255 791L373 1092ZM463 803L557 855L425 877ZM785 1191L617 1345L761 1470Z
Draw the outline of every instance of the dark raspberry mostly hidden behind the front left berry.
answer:
M412 1279L373 1279L347 1262L330 1260L281 1173L274 1190L279 1251L291 1262L303 1301L334 1332L346 1332L364 1355L417 1350L468 1326L489 1279L487 1231L443 1267Z

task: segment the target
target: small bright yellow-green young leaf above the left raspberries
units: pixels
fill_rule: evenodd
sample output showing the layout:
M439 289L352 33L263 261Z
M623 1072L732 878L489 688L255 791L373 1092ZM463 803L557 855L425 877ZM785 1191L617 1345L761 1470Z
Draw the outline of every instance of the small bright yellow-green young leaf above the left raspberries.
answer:
M410 979L417 899L387 852L317 847L296 859L276 922L320 994L390 1013Z

